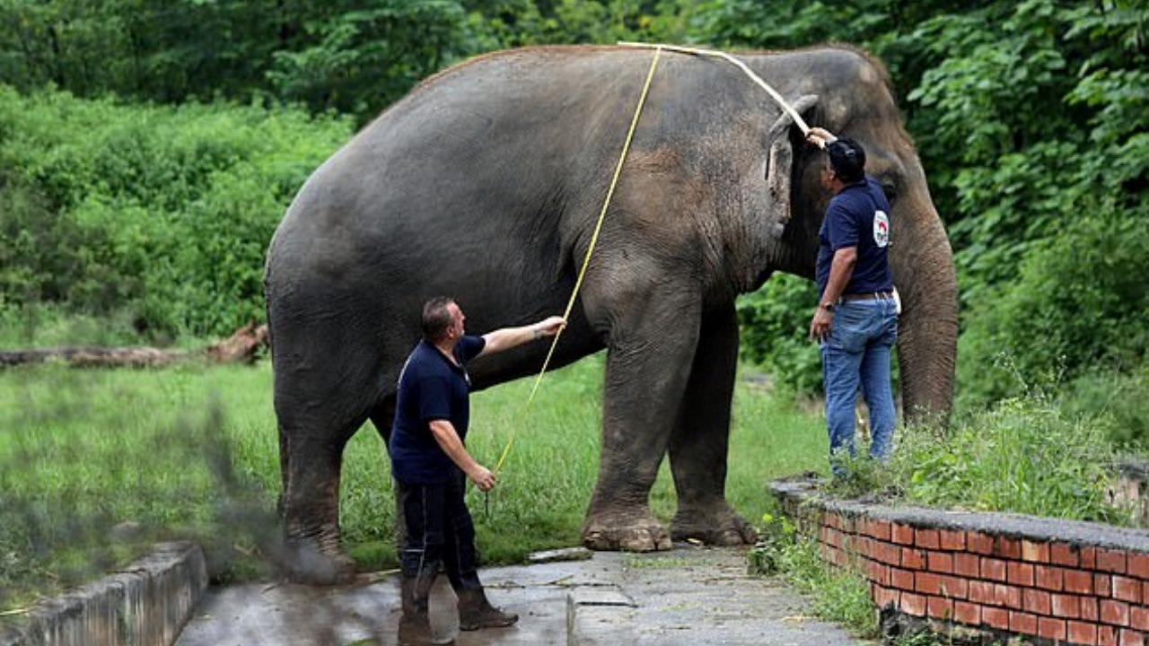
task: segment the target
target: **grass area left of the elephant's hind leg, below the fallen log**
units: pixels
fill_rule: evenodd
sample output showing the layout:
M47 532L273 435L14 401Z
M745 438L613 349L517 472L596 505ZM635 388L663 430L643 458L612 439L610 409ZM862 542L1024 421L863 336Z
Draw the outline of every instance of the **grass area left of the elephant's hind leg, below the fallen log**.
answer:
M199 364L0 372L0 590L20 602L83 583L154 540L202 537L217 571L257 549L277 462L232 451L268 428L268 384Z

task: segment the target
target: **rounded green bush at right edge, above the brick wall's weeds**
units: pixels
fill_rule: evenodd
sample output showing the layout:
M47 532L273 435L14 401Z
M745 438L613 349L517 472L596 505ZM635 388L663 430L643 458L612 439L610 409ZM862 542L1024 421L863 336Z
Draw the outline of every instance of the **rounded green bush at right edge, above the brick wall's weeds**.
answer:
M1034 243L1015 282L970 305L958 343L963 407L1144 361L1149 221L1082 214ZM1072 249L1072 251L1070 251ZM1002 361L1009 357L1009 361Z

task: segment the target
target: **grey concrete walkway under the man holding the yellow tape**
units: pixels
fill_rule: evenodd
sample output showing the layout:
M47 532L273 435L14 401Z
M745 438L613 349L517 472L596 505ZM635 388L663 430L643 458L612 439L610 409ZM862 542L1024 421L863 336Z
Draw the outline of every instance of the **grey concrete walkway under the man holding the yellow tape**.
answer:
M446 577L432 593L432 623L458 646L610 645L848 646L843 629L808 616L777 579L747 575L745 549L679 546L670 552L600 552L579 561L486 568L492 602L518 613L508 629L458 632ZM211 589L176 646L396 644L399 576L354 585Z

